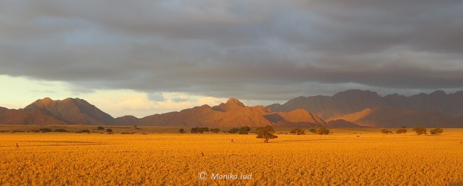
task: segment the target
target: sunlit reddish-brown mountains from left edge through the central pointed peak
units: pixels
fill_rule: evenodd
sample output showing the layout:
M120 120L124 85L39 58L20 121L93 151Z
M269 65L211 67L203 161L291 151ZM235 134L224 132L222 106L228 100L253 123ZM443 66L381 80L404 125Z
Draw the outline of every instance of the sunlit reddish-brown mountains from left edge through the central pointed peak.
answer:
M265 125L293 126L327 125L319 117L298 109L288 113L273 112L264 106L248 107L235 98L210 107L203 105L180 112L155 114L143 118L123 116L113 118L94 105L79 98L51 100L44 98L23 109L0 108L0 124L9 125L137 125L137 126L200 126L200 127L261 127ZM355 124L352 127L361 127Z

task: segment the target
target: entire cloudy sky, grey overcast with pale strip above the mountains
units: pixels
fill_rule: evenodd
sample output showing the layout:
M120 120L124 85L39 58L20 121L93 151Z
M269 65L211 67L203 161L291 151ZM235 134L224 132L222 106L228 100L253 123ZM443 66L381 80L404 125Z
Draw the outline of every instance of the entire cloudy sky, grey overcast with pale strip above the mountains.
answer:
M0 0L0 106L113 117L463 90L461 1Z

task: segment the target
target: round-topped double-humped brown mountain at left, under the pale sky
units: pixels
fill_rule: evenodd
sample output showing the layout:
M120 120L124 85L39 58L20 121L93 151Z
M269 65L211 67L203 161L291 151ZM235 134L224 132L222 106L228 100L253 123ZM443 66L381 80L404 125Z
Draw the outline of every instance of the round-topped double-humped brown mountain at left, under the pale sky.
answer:
M28 105L24 111L35 111L44 109L57 118L67 121L70 124L85 125L114 125L116 120L109 114L101 111L94 105L79 98L67 98L65 100L53 101L50 98L37 100Z

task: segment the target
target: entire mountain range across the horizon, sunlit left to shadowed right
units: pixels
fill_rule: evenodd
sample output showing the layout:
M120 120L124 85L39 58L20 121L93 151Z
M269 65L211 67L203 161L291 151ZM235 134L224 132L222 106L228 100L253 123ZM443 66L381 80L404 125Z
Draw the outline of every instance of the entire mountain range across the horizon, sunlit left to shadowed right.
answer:
M463 91L410 97L379 96L369 90L346 90L329 96L298 97L285 104L245 106L238 99L143 118L113 118L79 98L44 98L23 109L0 107L0 124L137 125L191 127L463 127Z

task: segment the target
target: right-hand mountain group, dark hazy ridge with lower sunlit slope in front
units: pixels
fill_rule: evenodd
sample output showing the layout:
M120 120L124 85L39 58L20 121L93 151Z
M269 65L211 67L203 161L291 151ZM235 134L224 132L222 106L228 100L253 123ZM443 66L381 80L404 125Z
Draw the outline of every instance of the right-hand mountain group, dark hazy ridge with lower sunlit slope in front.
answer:
M353 89L331 97L298 97L266 108L276 112L304 109L325 121L342 119L368 127L463 127L463 91L381 97L376 92Z

